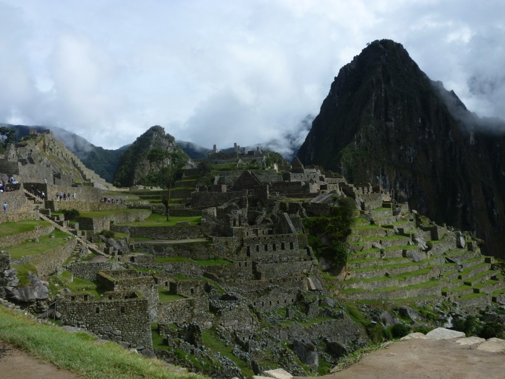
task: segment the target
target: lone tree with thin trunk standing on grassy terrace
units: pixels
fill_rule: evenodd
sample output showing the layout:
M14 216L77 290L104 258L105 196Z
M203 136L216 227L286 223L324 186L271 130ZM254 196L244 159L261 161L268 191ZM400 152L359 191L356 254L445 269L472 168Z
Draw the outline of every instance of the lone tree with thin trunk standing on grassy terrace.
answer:
M161 203L165 206L167 221L169 221L171 188L183 172L184 165L188 161L188 156L178 147L175 147L173 151L154 147L149 150L147 159L157 169L156 176L159 183L168 189L168 195L161 195Z

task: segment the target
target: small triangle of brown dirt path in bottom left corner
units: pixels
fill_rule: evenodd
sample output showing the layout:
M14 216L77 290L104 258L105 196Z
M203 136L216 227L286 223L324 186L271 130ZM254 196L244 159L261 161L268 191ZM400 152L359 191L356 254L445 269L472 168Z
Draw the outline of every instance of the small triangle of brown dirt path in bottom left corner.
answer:
M2 379L78 379L81 376L60 370L50 363L42 363L37 358L8 344L0 342L0 377Z

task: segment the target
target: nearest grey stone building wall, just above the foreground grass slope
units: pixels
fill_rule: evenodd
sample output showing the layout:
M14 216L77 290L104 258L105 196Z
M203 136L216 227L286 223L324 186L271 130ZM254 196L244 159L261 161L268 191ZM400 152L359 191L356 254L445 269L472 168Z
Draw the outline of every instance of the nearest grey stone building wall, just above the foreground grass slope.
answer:
M113 341L152 349L149 304L139 292L106 292L102 300L75 294L58 302L65 325L86 327Z

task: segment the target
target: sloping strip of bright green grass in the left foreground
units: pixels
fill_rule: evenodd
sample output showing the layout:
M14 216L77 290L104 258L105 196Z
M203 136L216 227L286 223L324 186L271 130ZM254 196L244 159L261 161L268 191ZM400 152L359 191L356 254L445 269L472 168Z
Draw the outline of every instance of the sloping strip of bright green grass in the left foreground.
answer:
M205 378L180 372L175 366L131 354L117 344L95 344L87 333L69 333L62 328L40 324L31 318L0 307L0 340L51 362L60 369L85 378Z

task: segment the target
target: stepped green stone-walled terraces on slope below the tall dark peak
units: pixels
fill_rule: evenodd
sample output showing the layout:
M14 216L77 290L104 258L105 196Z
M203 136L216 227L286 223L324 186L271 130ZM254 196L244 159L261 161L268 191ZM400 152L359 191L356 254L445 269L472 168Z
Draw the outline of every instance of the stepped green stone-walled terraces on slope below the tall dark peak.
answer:
M416 226L416 217L394 215L388 204L361 212L348 240L348 264L335 281L341 297L412 302L445 296L478 306L505 293L503 275L492 257L481 255L472 241L458 247L456 232L447 228ZM435 228L438 240L432 240Z

